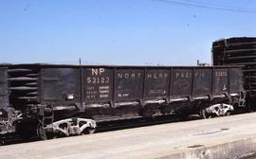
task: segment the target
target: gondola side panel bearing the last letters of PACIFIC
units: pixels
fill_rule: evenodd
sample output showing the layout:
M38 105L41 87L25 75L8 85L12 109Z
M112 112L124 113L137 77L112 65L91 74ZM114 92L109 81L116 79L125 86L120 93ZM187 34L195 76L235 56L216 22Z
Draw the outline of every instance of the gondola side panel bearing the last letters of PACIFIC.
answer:
M196 68L193 75L193 97L208 96L211 94L212 69Z

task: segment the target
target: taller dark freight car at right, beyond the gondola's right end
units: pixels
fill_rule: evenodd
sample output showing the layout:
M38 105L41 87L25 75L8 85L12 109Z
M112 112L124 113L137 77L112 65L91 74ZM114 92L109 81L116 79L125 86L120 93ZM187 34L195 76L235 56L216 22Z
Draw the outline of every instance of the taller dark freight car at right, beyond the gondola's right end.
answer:
M221 39L212 44L213 65L241 65L247 91L247 107L256 110L256 37Z

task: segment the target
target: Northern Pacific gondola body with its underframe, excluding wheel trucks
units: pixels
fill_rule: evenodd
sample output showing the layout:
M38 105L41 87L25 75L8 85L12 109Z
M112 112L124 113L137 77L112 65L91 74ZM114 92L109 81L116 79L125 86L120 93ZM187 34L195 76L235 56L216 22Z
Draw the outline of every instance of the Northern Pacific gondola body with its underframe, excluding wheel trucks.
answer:
M18 110L44 105L58 111L65 109L62 115L71 115L70 109L99 118L137 116L141 109L148 109L148 115L152 115L174 100L185 98L189 106L166 107L167 112L191 108L193 97L239 93L243 91L243 80L237 78L241 73L240 66L12 65L10 99Z

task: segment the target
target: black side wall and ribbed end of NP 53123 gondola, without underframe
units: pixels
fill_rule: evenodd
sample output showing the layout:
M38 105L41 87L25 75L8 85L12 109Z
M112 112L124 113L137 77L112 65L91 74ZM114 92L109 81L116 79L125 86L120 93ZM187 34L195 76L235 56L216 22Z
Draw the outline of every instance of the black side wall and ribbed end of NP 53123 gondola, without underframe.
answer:
M23 65L9 70L12 98L38 97L40 102L53 105L222 95L243 90L241 73L239 66L30 68ZM68 95L74 98L68 100Z

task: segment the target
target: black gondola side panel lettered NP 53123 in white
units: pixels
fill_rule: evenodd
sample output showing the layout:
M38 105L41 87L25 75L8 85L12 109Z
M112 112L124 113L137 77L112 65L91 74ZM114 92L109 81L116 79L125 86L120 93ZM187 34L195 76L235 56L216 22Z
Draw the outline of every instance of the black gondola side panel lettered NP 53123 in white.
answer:
M83 100L85 103L111 101L113 97L113 68L83 68Z

